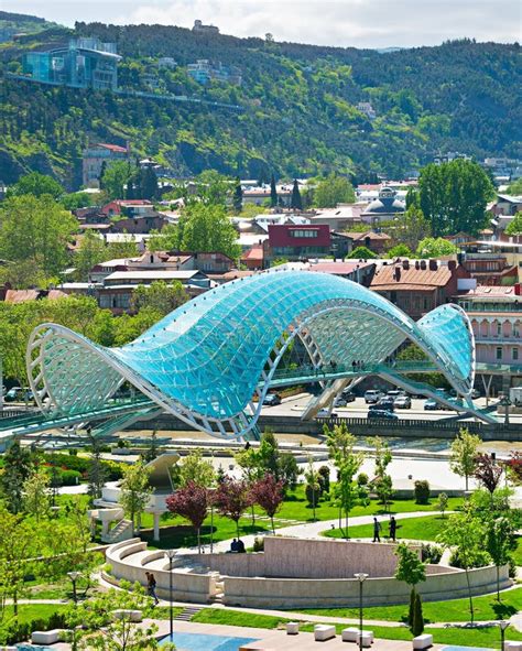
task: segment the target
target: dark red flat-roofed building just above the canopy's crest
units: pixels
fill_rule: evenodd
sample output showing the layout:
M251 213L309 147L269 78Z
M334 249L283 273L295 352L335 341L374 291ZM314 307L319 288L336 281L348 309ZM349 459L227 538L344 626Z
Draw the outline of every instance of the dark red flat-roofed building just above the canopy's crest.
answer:
M330 252L330 229L326 225L269 226L271 259L308 260Z

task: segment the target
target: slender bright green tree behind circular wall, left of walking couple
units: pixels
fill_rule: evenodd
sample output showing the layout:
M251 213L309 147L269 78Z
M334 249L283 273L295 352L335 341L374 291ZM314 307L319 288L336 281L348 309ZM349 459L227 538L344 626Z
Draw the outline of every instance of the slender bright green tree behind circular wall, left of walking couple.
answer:
M356 452L356 437L348 432L345 423L335 425L329 430L326 425L324 428L326 434L326 445L328 447L328 455L337 468L337 484L334 487L334 496L337 506L339 507L339 529L340 516L345 514L345 538L349 538L348 533L348 518L351 509L367 499L365 486L355 480L365 455L362 452Z

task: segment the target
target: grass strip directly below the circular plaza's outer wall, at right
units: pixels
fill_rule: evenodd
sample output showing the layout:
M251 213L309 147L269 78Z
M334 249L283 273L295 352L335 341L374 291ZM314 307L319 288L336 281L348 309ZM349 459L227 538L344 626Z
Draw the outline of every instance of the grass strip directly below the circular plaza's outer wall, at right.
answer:
M512 615L522 610L522 587L504 590L500 594L500 603L497 601L496 595L474 597L476 621L509 619ZM426 623L464 622L469 620L469 601L467 598L452 599L449 601L425 601L422 608ZM302 610L302 612L326 617L359 617L358 608L312 608ZM365 617L387 621L406 621L407 605L369 606L365 608Z

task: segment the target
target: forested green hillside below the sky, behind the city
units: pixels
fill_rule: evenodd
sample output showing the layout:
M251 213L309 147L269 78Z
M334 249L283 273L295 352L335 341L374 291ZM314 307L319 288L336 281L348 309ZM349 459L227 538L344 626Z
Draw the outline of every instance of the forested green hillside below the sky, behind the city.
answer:
M0 74L19 73L28 48L72 34L116 41L127 91L177 95L208 105L2 83L0 180L28 170L79 184L80 153L89 140L123 143L176 173L214 167L259 177L335 170L359 180L370 172L402 176L437 151L520 155L520 46L463 40L437 47L371 50L273 43L195 34L163 25L77 23L4 44ZM159 57L173 57L174 69ZM198 58L238 66L242 85L203 87L186 73ZM371 102L377 118L357 109Z

